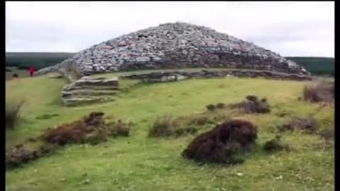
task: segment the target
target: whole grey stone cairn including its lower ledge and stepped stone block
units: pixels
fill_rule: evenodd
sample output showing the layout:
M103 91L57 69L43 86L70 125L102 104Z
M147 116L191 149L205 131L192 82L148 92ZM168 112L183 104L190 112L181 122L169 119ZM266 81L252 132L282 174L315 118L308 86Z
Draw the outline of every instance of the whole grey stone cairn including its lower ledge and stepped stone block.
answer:
M36 75L60 72L70 84L62 91L65 105L114 100L118 78L90 79L89 75L140 69L220 68L253 72L202 71L196 73L127 76L147 82L177 81L211 76L310 78L310 72L279 54L216 30L189 23L165 23L137 30L82 50ZM255 72L256 71L256 72ZM261 72L257 72L261 71ZM268 72L267 72L268 71ZM277 74L276 74L277 73ZM280 74L278 74L280 73ZM82 77L82 78L81 78Z

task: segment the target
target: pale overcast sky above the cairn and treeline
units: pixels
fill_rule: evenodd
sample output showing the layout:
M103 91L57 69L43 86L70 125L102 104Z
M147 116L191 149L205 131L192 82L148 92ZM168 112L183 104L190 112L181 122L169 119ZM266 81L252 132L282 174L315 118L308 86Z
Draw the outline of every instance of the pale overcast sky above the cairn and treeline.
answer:
M176 21L205 25L282 56L334 57L331 1L6 1L6 52L79 52Z

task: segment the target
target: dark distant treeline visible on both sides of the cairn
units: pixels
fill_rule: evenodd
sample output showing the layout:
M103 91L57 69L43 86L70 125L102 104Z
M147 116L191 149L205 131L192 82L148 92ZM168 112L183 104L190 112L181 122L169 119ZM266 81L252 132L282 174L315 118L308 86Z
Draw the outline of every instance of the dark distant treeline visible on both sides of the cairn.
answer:
M74 56L69 52L6 52L6 66L28 69L42 69L54 66L64 59ZM286 57L287 59L304 66L305 69L317 75L334 76L334 58L328 57Z

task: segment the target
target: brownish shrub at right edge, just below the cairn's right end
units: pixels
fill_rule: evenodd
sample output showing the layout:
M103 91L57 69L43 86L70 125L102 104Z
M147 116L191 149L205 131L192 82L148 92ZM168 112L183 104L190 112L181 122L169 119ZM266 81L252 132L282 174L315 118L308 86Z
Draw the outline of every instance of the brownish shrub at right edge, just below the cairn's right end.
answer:
M314 82L303 89L303 99L312 103L333 102L334 83Z

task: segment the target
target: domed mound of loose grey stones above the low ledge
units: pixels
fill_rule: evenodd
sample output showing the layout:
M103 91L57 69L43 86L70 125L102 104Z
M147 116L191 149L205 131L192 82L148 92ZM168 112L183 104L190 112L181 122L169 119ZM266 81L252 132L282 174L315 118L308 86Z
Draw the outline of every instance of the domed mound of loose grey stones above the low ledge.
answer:
M138 30L83 50L61 64L81 76L107 71L192 67L266 69L310 74L279 54L225 33L189 23L166 23Z

